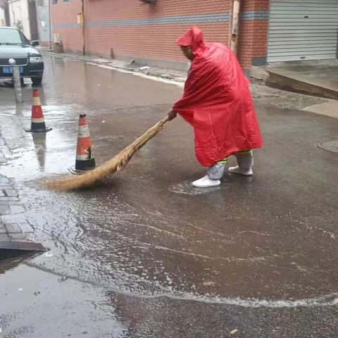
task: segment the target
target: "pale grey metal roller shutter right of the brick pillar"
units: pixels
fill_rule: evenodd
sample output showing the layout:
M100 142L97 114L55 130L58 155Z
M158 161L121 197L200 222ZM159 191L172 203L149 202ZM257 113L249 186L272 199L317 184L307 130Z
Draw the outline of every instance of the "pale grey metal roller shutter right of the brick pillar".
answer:
M338 0L270 0L268 62L337 58Z

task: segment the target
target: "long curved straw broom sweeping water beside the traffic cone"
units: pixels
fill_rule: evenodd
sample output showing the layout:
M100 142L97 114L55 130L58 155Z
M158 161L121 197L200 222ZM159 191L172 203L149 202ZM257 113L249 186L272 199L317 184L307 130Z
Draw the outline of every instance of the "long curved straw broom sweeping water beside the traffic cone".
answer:
M163 118L163 120L159 121L156 125L147 130L142 136L127 146L127 148L120 151L119 154L110 160L104 162L98 168L95 168L83 175L64 177L59 180L44 181L42 182L42 185L49 189L69 191L91 187L94 184L102 182L102 180L115 173L115 171L125 168L127 163L130 161L130 158L132 158L132 156L141 149L142 146L149 141L149 139L152 139L158 132L163 130L164 125L168 122L168 120L168 116Z

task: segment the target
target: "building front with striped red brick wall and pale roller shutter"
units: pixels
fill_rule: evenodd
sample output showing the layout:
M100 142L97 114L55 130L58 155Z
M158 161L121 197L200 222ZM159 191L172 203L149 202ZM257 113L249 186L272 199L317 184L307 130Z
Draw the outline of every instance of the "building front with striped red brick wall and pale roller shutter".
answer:
M185 61L175 40L192 25L209 41L230 43L233 0L50 1L53 30L65 51L178 68ZM337 58L338 0L241 2L237 56L244 70L273 61Z

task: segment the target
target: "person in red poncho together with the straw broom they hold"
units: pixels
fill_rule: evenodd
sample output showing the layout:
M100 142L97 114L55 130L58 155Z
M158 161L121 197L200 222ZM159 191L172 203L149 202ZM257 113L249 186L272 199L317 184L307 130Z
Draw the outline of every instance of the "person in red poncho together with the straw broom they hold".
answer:
M235 155L238 165L230 173L252 175L252 149L263 146L251 94L236 56L227 46L204 42L203 33L192 27L177 40L192 61L182 99L156 125L134 140L113 158L84 175L61 177L42 182L56 190L76 190L104 182L125 168L132 156L158 132L168 120L180 113L194 127L196 157L207 175L193 182L194 187L215 187L225 172L227 158Z

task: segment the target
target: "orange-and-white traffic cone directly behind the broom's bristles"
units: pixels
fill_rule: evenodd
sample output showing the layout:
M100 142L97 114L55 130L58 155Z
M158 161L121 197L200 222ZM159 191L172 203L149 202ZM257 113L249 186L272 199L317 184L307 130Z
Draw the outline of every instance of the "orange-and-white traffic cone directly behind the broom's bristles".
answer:
M95 158L89 136L87 117L85 114L82 114L79 119L75 167L69 168L68 170L72 174L80 175L84 173L84 171L92 170L94 168Z

